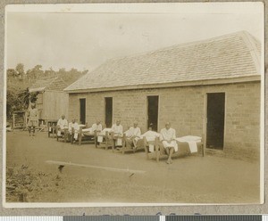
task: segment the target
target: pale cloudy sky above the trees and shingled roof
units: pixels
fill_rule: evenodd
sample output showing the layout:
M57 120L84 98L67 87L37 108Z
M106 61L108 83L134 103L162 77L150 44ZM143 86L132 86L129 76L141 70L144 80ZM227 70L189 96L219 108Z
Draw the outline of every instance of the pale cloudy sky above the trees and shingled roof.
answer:
M13 5L6 9L6 68L94 70L111 58L241 30L263 42L261 3L152 5Z

